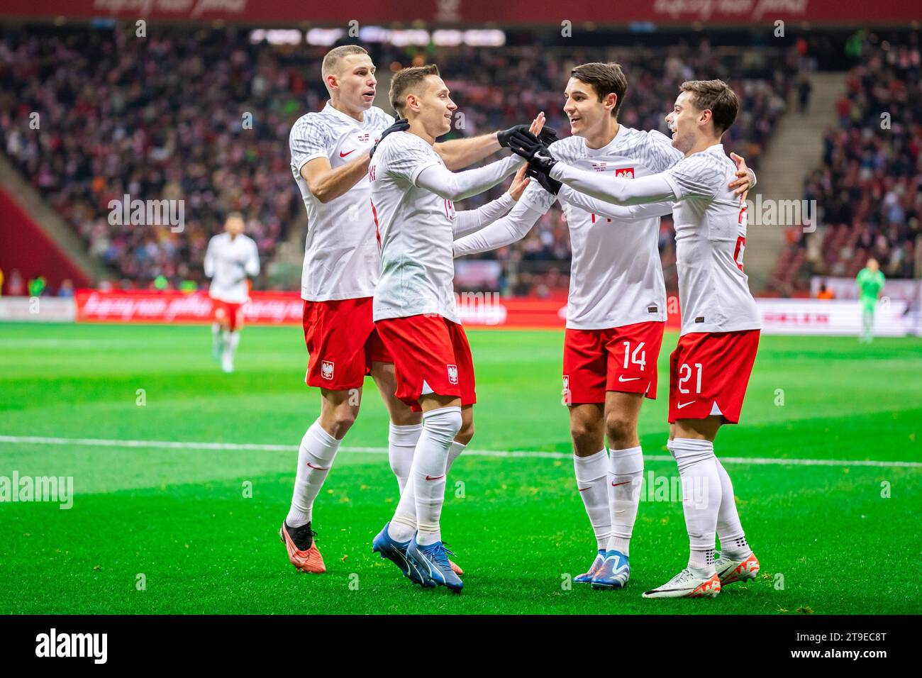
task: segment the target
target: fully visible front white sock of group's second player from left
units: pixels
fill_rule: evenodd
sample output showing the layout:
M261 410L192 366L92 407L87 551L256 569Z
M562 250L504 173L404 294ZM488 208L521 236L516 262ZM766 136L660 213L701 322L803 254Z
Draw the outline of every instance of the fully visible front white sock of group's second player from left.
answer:
M439 517L445 500L448 448L460 430L460 407L439 408L422 415L422 434L410 470L416 495L416 541L420 546L442 541Z

